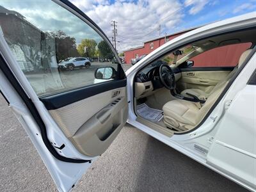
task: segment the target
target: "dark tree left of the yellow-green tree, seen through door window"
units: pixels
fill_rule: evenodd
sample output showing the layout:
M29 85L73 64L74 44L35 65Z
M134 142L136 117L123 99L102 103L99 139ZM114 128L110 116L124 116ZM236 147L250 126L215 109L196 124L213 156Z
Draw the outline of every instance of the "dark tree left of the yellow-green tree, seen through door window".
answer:
M76 49L76 38L67 36L65 32L60 30L50 32L48 35L55 38L57 61L79 56Z

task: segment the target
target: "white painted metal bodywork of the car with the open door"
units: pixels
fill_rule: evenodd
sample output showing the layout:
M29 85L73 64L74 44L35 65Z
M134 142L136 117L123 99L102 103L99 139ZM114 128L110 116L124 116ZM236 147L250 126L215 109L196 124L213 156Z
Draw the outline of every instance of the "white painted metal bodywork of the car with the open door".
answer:
M58 2L59 3L59 2ZM78 17L80 17L82 20L83 17L79 15L78 13L74 12L74 10L71 10L68 8L68 6L65 6L63 3L59 3L67 10L70 10L70 12L74 13ZM91 25L92 26L92 25ZM145 58L143 58L141 61L136 63L136 65L132 66L129 70L127 70L127 94L128 94L128 100L129 102L129 124L134 125L134 127L137 127L141 131L146 132L150 136L153 136L159 141L162 141L163 143L166 143L166 145L169 145L170 147L175 148L176 150L179 150L179 152L182 152L183 154L186 154L186 156L191 157L192 159L195 159L195 161L198 161L199 163L204 164L205 166L211 168L212 170L220 173L221 175L224 175L228 179L234 180L238 184L241 184L241 186L244 186L247 189L250 189L252 191L255 191L255 185L253 185L253 171L254 170L244 170L244 172L240 172L239 170L236 170L236 168L243 169L243 166L241 166L242 162L234 162L233 164L225 164L220 163L218 161L233 161L232 156L226 156L225 159L221 159L223 151L227 150L227 148L230 148L229 145L234 145L232 141L228 141L223 138L223 134L227 134L226 129L222 130L222 127L228 127L230 126L230 122L228 122L229 118L225 120L226 115L236 113L237 110L236 105L233 103L235 100L239 100L239 95L251 95L252 98L254 98L255 102L255 87L250 88L250 86L246 85L248 79L250 78L253 70L255 70L255 63L256 63L256 55L254 54L253 57L250 59L248 64L244 67L243 71L239 74L236 81L232 84L228 92L225 94L223 99L219 102L219 104L214 108L211 115L207 120L205 120L204 124L200 126L195 131L189 132L188 134L175 134L171 138L168 138L167 136L163 136L163 134L154 131L147 126L140 124L139 122L136 122L136 115L133 111L133 80L134 76L136 75L136 72L138 72L141 68L145 67L148 62L158 58L163 54L164 52L174 49L175 47L179 45L186 44L187 42L191 42L193 40L196 40L198 38L202 38L207 35L213 35L216 33L223 33L227 31L234 31L237 29L243 29L250 26L256 26L256 12L248 13L246 15L241 15L239 17L234 17L232 19L223 20L220 22L216 22L213 24L210 24L208 26L204 26L202 28L195 29L193 31L190 31L188 33L185 33L184 35L180 35L179 37L171 40L170 42L164 44L163 46L159 47L155 51L151 52ZM97 28L93 27L95 31L98 31ZM99 31L98 31L99 32ZM75 159L88 159L88 160L94 160L97 157L87 157L83 154L79 153L78 150L72 145L72 143L68 140L68 138L65 137L63 132L60 130L56 122L52 119L51 115L45 108L44 104L38 99L36 93L34 92L33 88L28 82L28 79L24 76L22 70L20 70L20 67L17 63L17 61L14 60L12 52L8 48L8 45L6 44L3 35L0 35L0 50L1 55L6 60L6 63L8 63L9 67L12 69L13 74L19 79L19 83L24 88L25 92L28 94L29 98L33 101L33 103L36 106L36 109L38 110L38 113L40 113L40 116L42 117L42 120L45 123L45 127L47 129L48 138L50 141L55 141L56 146L60 146L61 143L65 143L64 150L61 151L61 155L65 157L75 158ZM45 165L47 166L47 169L51 173L52 179L54 179L54 182L57 185L58 190L60 191L69 191L72 189L72 186L74 183L77 182L81 178L84 172L88 169L90 166L90 163L65 163L63 161L59 161L55 159L51 152L47 150L47 148L44 145L44 142L42 141L42 138L40 137L40 131L38 129L38 125L36 124L35 120L33 120L33 117L31 116L30 112L28 111L28 108L24 105L24 102L20 100L15 90L13 90L11 84L8 82L6 77L3 76L3 73L0 72L0 89L2 90L3 94L8 98L10 101L10 108L12 109L13 113L17 116L20 123L26 130L26 132L29 135L29 138L33 141L33 144L35 145L36 149L38 150L38 153L40 154L40 157L42 157ZM237 95L238 94L238 95ZM240 98L242 99L242 98ZM230 100L233 100L232 104L227 110L227 104L230 102ZM249 102L249 101L248 101ZM253 107L252 105L250 105ZM252 114L249 103L248 106L246 106L246 111L244 111L244 116L250 116ZM228 111L228 113L227 113ZM216 117L216 120L212 121L211 117ZM238 117L237 117L238 118ZM250 118L253 121L253 125L255 125L255 117ZM232 118L230 117L230 120ZM250 126L250 125L248 125ZM253 134L255 134L255 127L250 127L250 129L254 131ZM237 131L239 131L239 127L235 127ZM217 134L216 134L217 132ZM244 132L244 134L248 134ZM244 137L246 138L246 137ZM255 138L255 135L253 136ZM244 139L245 140L245 139ZM218 143L219 142L219 143ZM227 143L228 145L221 145L223 150L218 150L218 145L222 143ZM242 141L241 141L242 142ZM243 141L246 142L246 141ZM195 143L205 147L209 148L208 153L202 153L195 149ZM253 141L252 141L253 143ZM213 145L212 145L213 144ZM250 147L245 146L236 146L235 150L237 152L236 157L241 159L244 154L248 156L248 162L252 164L256 164L255 159L255 140L254 145ZM239 148L241 147L241 148ZM217 149L217 150L216 150ZM234 147L233 149L234 150ZM58 151L58 150L57 150ZM60 151L58 151L60 152ZM231 152L231 151L228 151ZM233 152L233 151L232 151ZM246 160L247 161L247 160ZM167 165L168 166L168 165ZM254 167L255 168L255 167ZM227 171L229 170L229 172ZM246 172L247 171L247 172ZM236 173L236 174L234 174ZM243 177L245 180L241 180L241 177ZM255 183L254 183L255 184Z

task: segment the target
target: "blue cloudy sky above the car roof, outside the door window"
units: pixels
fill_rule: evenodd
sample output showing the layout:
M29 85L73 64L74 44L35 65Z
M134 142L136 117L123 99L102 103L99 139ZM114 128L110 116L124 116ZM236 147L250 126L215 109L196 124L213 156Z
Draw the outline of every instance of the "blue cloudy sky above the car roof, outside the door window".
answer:
M117 22L119 52L195 26L256 11L255 0L71 0L111 39Z

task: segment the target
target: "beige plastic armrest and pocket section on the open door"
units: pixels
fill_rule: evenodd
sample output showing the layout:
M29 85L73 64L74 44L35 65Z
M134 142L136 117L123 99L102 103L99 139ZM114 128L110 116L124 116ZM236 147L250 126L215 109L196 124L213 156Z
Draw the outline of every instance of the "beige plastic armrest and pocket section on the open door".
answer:
M81 153L87 156L99 156L108 149L124 127L127 112L127 97L122 97L115 106L109 104L93 115L70 140Z

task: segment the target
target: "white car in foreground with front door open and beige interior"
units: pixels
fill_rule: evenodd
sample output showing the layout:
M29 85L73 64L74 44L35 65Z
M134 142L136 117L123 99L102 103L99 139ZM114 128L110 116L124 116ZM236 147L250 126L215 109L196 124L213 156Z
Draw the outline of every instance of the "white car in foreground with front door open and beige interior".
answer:
M15 8L8 1L0 4L6 10ZM73 27L76 33L70 36L86 31L84 38L93 38L97 44L105 42L109 53L118 60L108 37L73 4L38 1L35 6L35 10L48 14L47 21L49 17L60 17L68 18L70 25L76 24ZM18 6L19 10L22 9ZM0 17L5 20L12 17L14 23L17 15L13 10ZM145 56L126 74L120 64L109 62L102 63L95 74L74 70L62 76L52 68L47 74L35 70L33 78L30 78L33 71L24 73L15 52L22 44L24 49L39 47L44 52L44 47L40 48L44 38L42 44L35 41L38 46L27 46L33 43L34 37L29 36L26 28L28 31L33 28L35 37L43 36L42 29L51 31L52 28L36 19L31 19L33 25L30 25L25 20L29 15L24 16L17 19L24 26L22 30L20 25L16 29L15 24L7 28L1 23L4 19L0 19L3 31L0 90L59 191L74 187L126 122L244 188L256 191L255 12L180 35ZM64 30L67 24L61 26L62 22L56 20L54 25ZM42 25L44 28L37 33L35 28ZM83 31L77 33L77 29ZM12 35L22 36L22 42L16 42L20 38ZM54 40L49 40L47 45L51 42ZM52 54L45 54L44 65L56 62L54 47L54 44L50 46ZM228 54L230 60L226 60ZM211 65L195 67L196 63L202 63L198 59L200 55L211 55L204 60ZM26 62L31 61L24 59L23 63ZM85 78L88 79L77 80ZM93 78L108 81L95 83Z

